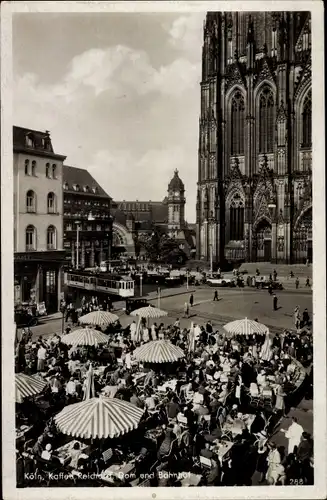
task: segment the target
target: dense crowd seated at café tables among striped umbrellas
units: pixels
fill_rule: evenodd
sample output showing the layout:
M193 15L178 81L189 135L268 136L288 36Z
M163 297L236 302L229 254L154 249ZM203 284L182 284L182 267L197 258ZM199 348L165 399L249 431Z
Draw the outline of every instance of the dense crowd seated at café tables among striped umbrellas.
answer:
M79 314L100 307L96 299L82 301L77 317L70 312L67 320L75 325ZM127 330L117 323L107 330L107 344L97 347L70 348L60 335L33 339L23 332L16 372L40 377L46 387L17 404L18 484L32 485L26 471L62 467L56 450L71 438L59 432L53 417L85 399L90 365L96 395L144 411L136 430L114 440L91 440L88 453L85 443L74 442L65 470L95 472L92 485L106 484L101 471L123 462L133 463L139 480L148 474L150 485L183 485L181 472L197 485L313 484L313 439L307 430L293 418L285 429L287 449L272 437L299 391L312 397L310 329L228 336L210 321L188 329L179 319L170 326L157 323L143 321L138 327L133 321ZM164 339L184 351L177 363L147 365L135 359L138 346ZM160 475L162 470L169 477ZM130 485L122 477L113 484Z

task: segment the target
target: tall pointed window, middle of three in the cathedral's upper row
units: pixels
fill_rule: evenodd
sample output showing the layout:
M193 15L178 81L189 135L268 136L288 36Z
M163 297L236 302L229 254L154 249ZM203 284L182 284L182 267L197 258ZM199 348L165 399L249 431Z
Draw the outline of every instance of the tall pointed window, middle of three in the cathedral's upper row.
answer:
M274 95L269 87L260 94L259 101L259 152L274 151Z

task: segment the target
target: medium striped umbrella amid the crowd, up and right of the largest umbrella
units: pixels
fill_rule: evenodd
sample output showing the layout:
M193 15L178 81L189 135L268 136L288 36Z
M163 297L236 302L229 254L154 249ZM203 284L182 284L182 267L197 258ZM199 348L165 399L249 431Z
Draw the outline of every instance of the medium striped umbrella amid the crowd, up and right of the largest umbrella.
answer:
M184 358L185 354L180 347L167 340L153 340L137 347L133 356L145 363L172 363Z

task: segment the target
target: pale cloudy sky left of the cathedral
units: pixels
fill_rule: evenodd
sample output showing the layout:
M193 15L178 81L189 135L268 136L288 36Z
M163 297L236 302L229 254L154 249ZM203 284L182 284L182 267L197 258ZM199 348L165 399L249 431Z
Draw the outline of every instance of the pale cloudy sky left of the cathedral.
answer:
M195 222L204 18L14 14L14 124L49 130L117 201L162 200L177 168Z

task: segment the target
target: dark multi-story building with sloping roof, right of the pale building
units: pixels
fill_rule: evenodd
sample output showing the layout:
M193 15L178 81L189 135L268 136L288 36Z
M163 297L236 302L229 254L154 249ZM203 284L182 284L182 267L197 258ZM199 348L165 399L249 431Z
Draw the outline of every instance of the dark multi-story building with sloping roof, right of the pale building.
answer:
M111 259L111 198L84 169L63 167L64 248L69 264L94 267Z

